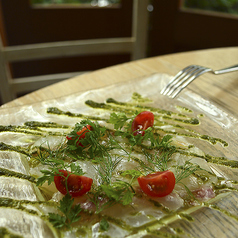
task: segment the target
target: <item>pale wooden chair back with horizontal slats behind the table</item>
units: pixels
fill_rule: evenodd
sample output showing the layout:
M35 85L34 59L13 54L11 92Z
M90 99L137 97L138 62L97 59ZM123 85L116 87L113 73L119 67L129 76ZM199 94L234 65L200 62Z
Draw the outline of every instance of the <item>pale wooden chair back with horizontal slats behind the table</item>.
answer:
M0 26L0 96L7 103L19 93L34 91L86 72L72 72L13 78L12 62L105 53L130 53L131 60L146 57L149 0L133 0L131 37L88 39L7 46L4 26ZM0 13L1 17L1 13ZM1 19L0 19L1 21ZM3 21L1 21L3 22Z

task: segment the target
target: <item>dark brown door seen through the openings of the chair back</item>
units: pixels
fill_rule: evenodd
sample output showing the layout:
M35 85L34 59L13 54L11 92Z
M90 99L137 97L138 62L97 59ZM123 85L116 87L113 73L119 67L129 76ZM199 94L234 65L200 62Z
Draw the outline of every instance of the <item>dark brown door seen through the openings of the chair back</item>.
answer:
M0 0L8 45L130 37L133 0ZM130 60L128 54L13 63L15 77L88 71Z

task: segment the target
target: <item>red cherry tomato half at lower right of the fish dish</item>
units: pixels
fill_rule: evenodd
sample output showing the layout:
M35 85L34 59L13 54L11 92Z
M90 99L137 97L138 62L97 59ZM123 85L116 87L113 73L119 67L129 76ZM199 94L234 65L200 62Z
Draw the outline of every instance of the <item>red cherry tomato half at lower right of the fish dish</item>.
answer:
M164 197L175 186L175 176L170 170L160 171L137 178L142 191L151 197Z

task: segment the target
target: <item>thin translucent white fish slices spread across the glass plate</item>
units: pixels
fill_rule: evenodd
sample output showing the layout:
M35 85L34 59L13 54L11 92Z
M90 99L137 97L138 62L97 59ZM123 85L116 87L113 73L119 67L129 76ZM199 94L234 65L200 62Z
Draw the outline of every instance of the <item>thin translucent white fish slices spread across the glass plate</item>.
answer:
M97 113L95 115L104 116L104 113ZM63 117L57 117L55 116L55 121L58 121L63 124L69 124L73 127L72 122L78 122L78 119L69 119L69 118L63 118ZM67 123L65 123L67 121ZM70 121L70 122L69 122ZM105 123L100 122L101 125L105 125L112 129L112 126ZM43 132L45 131L45 135L47 135L47 132L49 129L43 129ZM62 130L60 128L53 129L54 132L60 132L60 133L66 133L67 131L70 131L68 129ZM46 148L54 148L57 147L59 144L61 144L65 137L62 136L34 136L34 135L28 135L28 134L18 134L18 133L1 133L1 141L4 141L7 144L14 145L14 146L22 146L27 147L31 146L34 150L37 146L42 146ZM120 143L126 143L122 138L118 138ZM173 138L173 143L176 145L179 145L180 147L187 148L189 145L188 142L183 138L179 136L175 136ZM199 150L196 147L192 147L189 149L190 152L194 152L196 154L203 155L204 153ZM133 152L134 153L134 152ZM111 154L121 154L123 155L123 152L120 150L111 151ZM133 155L133 154L132 154ZM143 160L143 156L140 154L136 155L141 160ZM28 170L28 168L25 167L25 163L27 161L26 156L22 156L16 152L1 152L0 158L3 159L2 164L5 166L6 169L11 169L16 172L21 172L28 175L37 175L40 176L40 170L44 169L45 167L42 165L39 165L38 167L31 168ZM11 164L10 161L14 162ZM190 160L190 162L198 164L201 168L205 169L206 171L211 171L210 165L202 158L197 157L188 157L183 156L181 154L174 154L172 160L177 163L184 163L186 160ZM7 162L9 161L9 162ZM6 163L5 163L6 162ZM78 161L75 162L80 164L83 171L85 172L85 175L88 177L91 177L94 179L94 182L97 182L97 174L95 173L95 167L94 165L89 161ZM133 169L137 166L136 162L133 160L128 161L127 159L123 159L120 163L120 165L115 170L115 177L117 178L117 172L123 171L123 170L129 170ZM170 168L172 171L174 171L173 166ZM30 172L29 172L30 171ZM118 177L119 178L119 177ZM5 198L13 198L13 199L23 199L23 200L29 200L29 201L38 201L39 198L37 194L35 193L35 185L32 185L29 181L18 179L18 178L12 178L12 177L0 177L0 191L2 191L2 194L0 194L1 197ZM204 185L198 181L198 179L195 176L190 176L189 178L186 178L183 183L191 190L194 191L197 194L198 198L201 198L201 200L206 200L214 197L214 192L212 191L212 183L216 183L217 178L215 176L209 178L209 181ZM44 184L43 188L48 189L49 192L51 192L52 201L60 201L62 199L62 194L60 194L54 184L51 184L48 186L47 184ZM140 188L135 186L135 189L138 191ZM141 191L139 191L141 192ZM174 191L163 198L153 198L155 202L158 202L162 204L164 207L168 208L171 211L176 211L184 206L184 197L186 196L187 191L184 188L184 186L177 184L175 186ZM120 204L117 204L113 207L113 209L107 209L103 211L103 214L120 218L125 223L132 227L139 227L141 225L147 224L150 221L153 221L154 219L160 219L165 214L161 210L154 209L153 203L149 201L147 196L142 197L134 197L132 201L132 206L128 207L128 209L123 209L123 206ZM85 208L87 210L94 209L92 203L90 203L87 200L86 196L82 196L81 198L75 199L75 203L80 203L82 208ZM27 207L27 206L26 206ZM29 207L29 205L28 205ZM45 205L41 205L41 210L44 211L45 214L47 214L52 208L49 208ZM0 218L0 226L5 226L9 228L11 232L17 232L22 234L24 237L54 237L55 234L51 230L51 225L44 222L42 219L40 219L37 216L33 216L31 214L28 214L24 211L18 211L16 212L16 209L13 208L1 208L0 213L3 214L4 212L7 212L9 216L6 216L4 219L3 217ZM136 215L132 215L135 214ZM14 214L14 215L13 215ZM14 222L12 222L11 216L16 219ZM4 215L2 215L4 216ZM1 217L1 215L0 215ZM2 220L1 220L2 219ZM18 222L18 220L24 219L24 223ZM19 223L19 224L18 224ZM12 224L15 224L14 226ZM36 230L32 230L35 227ZM99 237L101 233L99 232L100 225L99 223L95 223L92 226L91 232L88 234L88 237ZM38 230L38 231L37 231ZM53 229L54 230L54 229ZM47 234L47 235L46 235ZM115 224L110 224L110 229L107 232L103 233L104 235L111 235L111 237L124 237L127 235L127 231L121 229L120 227L116 226ZM65 233L65 237L72 237L72 234L69 232ZM87 237L87 236L86 236Z

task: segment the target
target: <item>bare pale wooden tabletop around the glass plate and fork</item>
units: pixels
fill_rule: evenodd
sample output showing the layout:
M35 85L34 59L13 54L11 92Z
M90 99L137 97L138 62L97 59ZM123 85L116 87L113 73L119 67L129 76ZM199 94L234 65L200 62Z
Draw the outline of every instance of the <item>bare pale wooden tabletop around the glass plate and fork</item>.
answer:
M2 107L32 104L79 91L126 82L155 72L175 75L180 69L190 64L203 65L213 69L238 64L238 47L176 53L104 68L42 88ZM191 83L189 88L238 117L238 72L217 76L206 73Z

